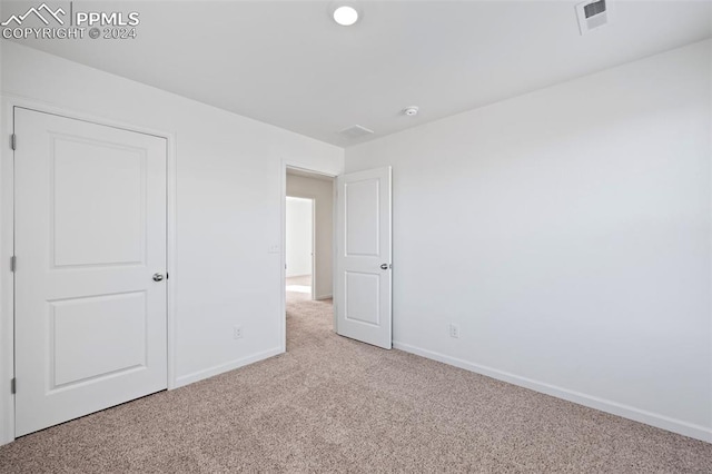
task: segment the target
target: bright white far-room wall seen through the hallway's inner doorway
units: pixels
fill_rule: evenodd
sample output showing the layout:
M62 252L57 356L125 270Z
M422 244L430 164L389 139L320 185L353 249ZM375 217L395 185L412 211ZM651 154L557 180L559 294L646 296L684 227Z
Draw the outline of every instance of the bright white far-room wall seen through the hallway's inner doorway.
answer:
M314 201L287 197L287 277L312 275Z

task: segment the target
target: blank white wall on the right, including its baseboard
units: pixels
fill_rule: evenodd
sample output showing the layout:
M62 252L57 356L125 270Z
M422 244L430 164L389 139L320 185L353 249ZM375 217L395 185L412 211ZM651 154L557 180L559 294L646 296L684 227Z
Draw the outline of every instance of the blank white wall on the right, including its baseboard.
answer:
M393 165L396 347L712 441L711 53L347 149Z

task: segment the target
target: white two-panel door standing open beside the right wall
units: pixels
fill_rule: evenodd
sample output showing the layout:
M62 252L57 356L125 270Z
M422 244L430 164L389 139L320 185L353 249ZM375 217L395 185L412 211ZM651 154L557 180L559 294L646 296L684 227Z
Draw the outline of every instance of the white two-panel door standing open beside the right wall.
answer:
M390 167L337 180L336 332L392 347Z

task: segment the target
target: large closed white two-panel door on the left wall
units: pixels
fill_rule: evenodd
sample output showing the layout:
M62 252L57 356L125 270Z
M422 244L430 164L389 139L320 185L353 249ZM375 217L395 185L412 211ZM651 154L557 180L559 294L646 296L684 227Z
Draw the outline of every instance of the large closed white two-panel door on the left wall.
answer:
M22 108L14 130L21 436L167 386L166 140Z

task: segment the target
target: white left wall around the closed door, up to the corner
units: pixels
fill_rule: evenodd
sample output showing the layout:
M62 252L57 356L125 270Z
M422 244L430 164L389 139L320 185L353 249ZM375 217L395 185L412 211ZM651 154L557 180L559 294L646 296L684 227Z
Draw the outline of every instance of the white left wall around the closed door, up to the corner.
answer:
M284 294L284 282L280 253L269 253L269 247L281 239L283 160L337 175L344 151L16 43L0 43L3 95L175 134L177 261L170 283L176 294L176 383L280 352L284 314L276 295ZM6 138L11 130L7 118L3 110ZM0 158L7 164L11 152L4 138L2 144ZM7 189L1 196L7 203ZM7 249L7 225L0 230ZM6 288L11 279L7 268L2 265L0 273ZM0 385L7 387L7 314L0 320ZM233 339L235 324L244 327L239 340ZM11 435L6 392L0 391L0 444Z

